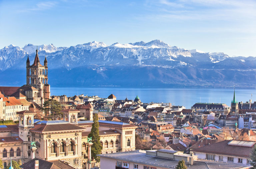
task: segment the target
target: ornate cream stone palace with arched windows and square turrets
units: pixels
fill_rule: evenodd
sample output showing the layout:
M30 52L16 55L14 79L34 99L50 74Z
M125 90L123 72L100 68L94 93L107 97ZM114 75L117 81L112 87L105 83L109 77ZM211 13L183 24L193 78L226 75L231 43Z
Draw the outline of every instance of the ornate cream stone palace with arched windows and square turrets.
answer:
M65 112L65 111L64 111ZM19 125L0 126L0 158L5 166L13 160L23 163L32 159L31 141L36 142L35 158L56 161L83 169L86 166L87 137L93 121L77 121L78 111L66 111L64 120L41 121L34 112L17 112ZM136 126L99 121L102 154L135 150Z

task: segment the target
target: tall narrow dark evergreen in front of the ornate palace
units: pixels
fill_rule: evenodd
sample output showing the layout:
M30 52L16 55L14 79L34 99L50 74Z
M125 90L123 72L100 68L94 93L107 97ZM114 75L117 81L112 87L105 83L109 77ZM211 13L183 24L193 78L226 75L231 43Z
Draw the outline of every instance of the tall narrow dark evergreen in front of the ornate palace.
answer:
M99 121L98 121L98 115L93 115L93 124L92 129L88 137L92 137L92 143L91 146L91 155L92 159L96 160L97 162L100 162L100 157L97 156L97 154L101 154L102 146L100 144L100 135L99 135Z

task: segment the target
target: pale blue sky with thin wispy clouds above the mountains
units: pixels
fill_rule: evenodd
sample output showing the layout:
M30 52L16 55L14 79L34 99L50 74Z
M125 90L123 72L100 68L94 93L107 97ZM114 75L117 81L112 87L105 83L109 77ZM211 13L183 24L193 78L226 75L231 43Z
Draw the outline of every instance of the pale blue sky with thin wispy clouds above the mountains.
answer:
M0 48L155 39L186 49L256 57L256 1L0 0Z

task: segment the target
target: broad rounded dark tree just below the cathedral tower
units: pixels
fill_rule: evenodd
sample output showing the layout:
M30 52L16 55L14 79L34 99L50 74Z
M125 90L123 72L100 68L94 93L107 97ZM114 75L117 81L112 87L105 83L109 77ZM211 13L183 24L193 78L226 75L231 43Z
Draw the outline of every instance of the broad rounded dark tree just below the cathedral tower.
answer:
M45 101L41 110L44 111L45 115L47 112L51 112L52 117L54 115L63 116L63 113L61 113L62 107L60 102L54 99Z

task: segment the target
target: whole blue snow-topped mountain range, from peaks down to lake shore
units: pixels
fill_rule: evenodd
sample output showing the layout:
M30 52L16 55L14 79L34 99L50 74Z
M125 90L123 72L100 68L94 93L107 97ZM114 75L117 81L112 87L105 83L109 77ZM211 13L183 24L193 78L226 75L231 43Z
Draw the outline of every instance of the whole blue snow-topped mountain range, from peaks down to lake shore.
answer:
M184 49L154 40L128 44L89 42L70 47L53 44L0 49L1 86L26 82L26 60L48 60L54 87L256 87L256 57Z

